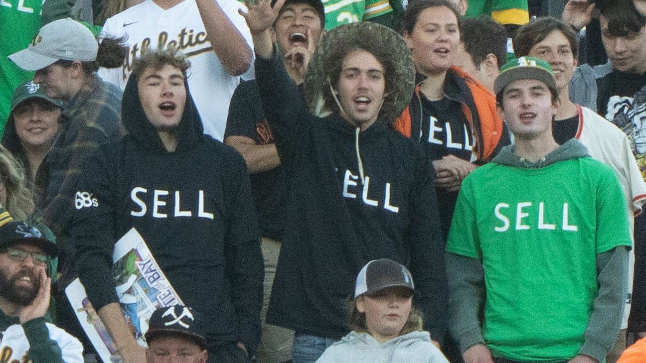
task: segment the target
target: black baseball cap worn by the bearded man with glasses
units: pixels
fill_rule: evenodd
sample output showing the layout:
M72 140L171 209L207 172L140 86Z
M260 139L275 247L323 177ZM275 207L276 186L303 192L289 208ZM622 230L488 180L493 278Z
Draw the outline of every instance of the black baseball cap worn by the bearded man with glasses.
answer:
M35 245L52 257L58 256L60 249L54 242L43 237L43 233L31 223L11 218L7 211L0 213L0 249L17 244Z

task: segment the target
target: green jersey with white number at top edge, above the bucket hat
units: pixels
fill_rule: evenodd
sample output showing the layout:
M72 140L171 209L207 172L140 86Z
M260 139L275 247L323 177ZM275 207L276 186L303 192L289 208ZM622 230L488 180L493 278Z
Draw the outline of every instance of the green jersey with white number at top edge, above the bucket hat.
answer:
M393 11L388 0L323 0L325 28L357 23Z

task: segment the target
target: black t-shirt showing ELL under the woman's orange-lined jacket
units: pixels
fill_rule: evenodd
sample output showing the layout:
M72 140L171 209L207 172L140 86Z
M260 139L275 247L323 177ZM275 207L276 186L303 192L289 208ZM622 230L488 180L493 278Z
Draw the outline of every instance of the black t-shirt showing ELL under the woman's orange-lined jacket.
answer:
M439 160L447 155L471 161L474 136L464 117L459 101L444 97L430 101L423 94L422 102L422 145L430 160ZM457 191L436 188L437 204L444 238L448 236L457 201Z

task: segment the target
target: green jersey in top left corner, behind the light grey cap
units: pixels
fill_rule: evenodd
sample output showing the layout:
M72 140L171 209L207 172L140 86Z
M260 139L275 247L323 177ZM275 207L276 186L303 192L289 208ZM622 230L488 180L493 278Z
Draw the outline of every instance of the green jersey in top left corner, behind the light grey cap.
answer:
M10 101L20 83L34 77L7 57L25 49L41 27L42 0L0 0L0 137L9 117Z

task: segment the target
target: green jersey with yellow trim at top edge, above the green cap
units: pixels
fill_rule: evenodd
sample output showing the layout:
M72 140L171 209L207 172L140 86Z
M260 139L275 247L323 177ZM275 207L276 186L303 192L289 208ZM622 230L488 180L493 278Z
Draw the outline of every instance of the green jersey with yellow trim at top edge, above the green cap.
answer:
M527 0L469 0L465 16L483 15L502 25L529 23Z

